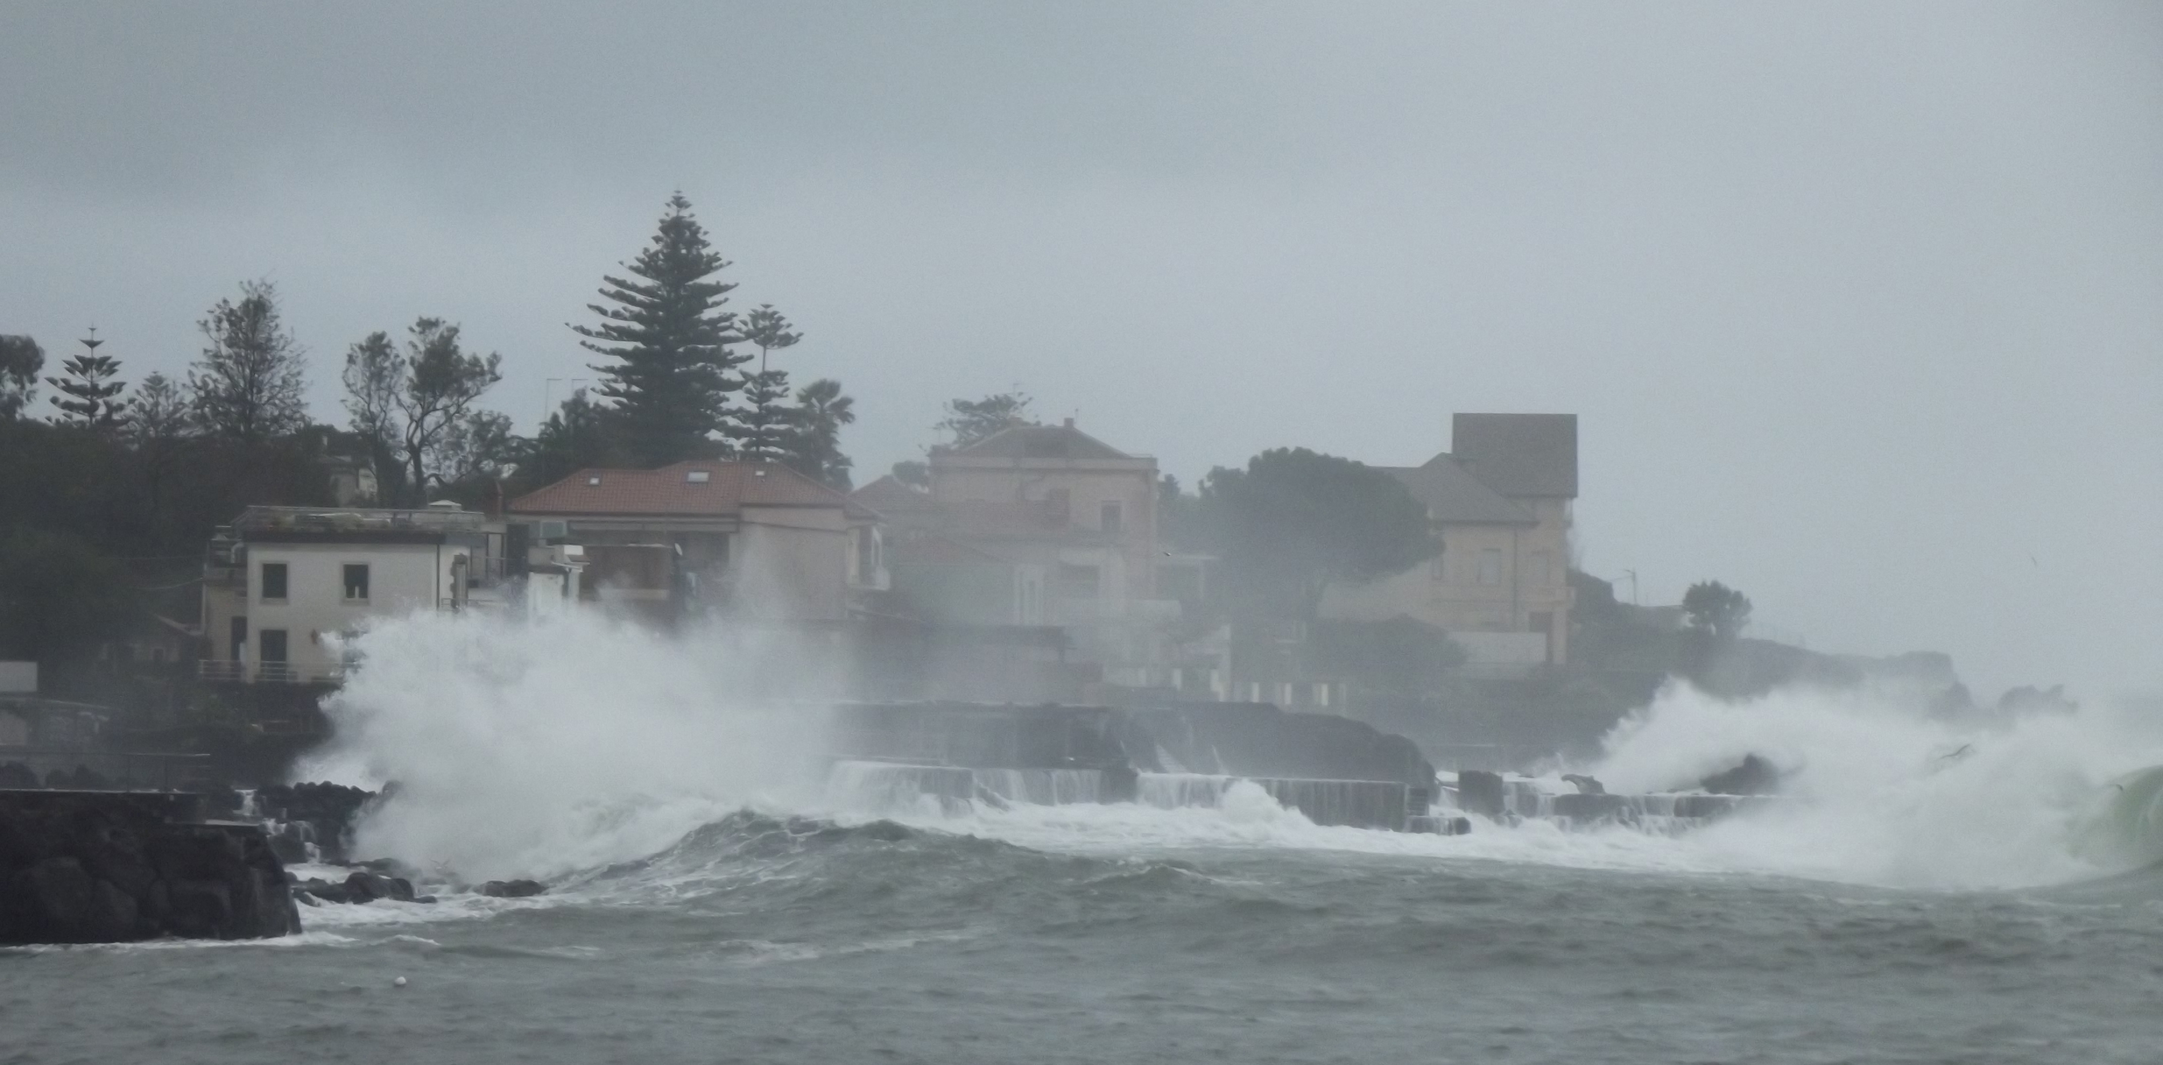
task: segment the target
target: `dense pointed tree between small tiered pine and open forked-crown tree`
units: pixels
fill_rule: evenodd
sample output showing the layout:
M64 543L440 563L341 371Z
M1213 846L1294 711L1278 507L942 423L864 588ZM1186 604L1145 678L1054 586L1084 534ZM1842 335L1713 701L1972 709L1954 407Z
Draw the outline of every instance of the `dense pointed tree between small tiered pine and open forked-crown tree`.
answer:
M212 436L262 443L307 426L303 348L277 309L277 287L242 281L197 324L210 341L188 367L188 408Z

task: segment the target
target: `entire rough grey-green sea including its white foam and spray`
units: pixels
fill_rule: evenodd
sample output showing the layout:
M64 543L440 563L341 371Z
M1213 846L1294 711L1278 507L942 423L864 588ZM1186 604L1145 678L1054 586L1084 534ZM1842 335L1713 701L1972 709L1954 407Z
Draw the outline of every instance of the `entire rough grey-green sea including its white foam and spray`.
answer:
M1423 836L1252 784L865 788L753 698L787 670L755 639L413 620L357 652L296 776L396 780L357 847L439 901L0 951L0 1063L2163 1056L2163 737L2131 713L1964 728L1890 696L1668 691L1575 769L1655 791L1754 752L1782 801ZM489 877L549 890L467 888Z

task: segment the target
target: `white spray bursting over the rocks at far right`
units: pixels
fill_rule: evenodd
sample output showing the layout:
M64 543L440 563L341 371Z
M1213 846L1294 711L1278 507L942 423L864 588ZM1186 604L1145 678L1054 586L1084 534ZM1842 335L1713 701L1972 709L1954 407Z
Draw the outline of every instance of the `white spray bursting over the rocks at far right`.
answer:
M1720 702L1676 685L1605 741L1609 791L1668 791L1771 760L1787 801L1689 845L1730 868L1912 888L2012 888L2141 860L2076 847L2105 784L2163 763L2137 715L2027 715L1996 726L1929 717L1873 691L1784 689Z

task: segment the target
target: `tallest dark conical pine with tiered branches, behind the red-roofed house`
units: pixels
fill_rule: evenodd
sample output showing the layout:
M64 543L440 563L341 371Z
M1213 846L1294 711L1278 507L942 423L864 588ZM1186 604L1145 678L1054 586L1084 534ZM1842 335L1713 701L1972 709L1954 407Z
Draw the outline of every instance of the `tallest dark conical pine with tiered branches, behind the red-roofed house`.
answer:
M658 467L716 449L712 434L727 423L729 393L744 387L733 372L751 361L729 350L742 337L720 307L735 285L714 281L727 266L677 192L653 242L623 264L627 277L601 279L608 305L588 305L601 322L571 326L606 359L593 367L603 376L599 393L614 400L610 417L638 462ZM720 441L718 449L731 445Z

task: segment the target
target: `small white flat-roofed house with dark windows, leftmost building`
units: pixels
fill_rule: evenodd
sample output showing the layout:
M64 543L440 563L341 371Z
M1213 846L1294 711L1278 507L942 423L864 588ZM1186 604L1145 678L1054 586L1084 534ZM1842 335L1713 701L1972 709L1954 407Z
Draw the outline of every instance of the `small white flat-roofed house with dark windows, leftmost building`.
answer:
M500 603L504 525L422 510L247 508L203 562L205 680L335 683L368 618Z

